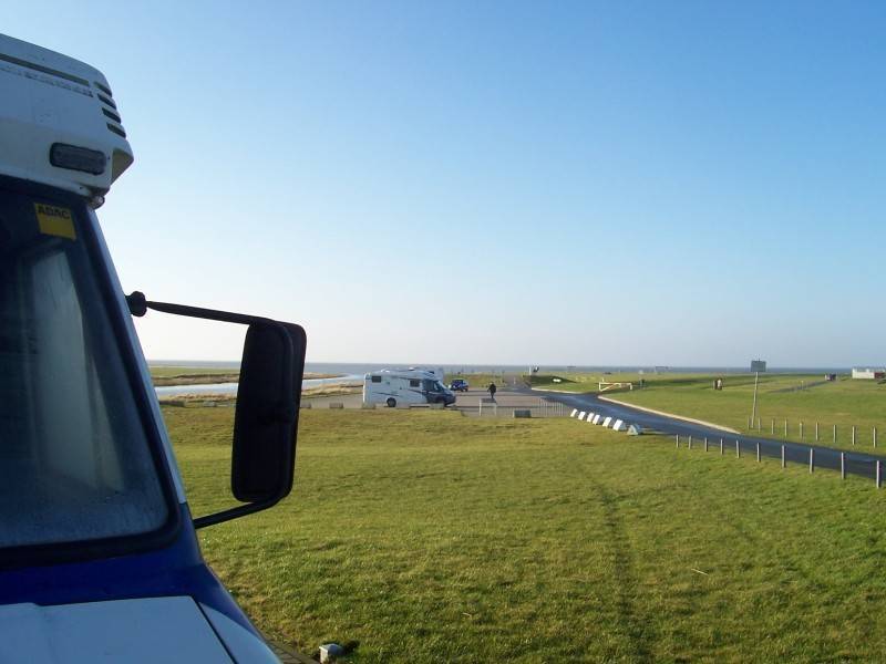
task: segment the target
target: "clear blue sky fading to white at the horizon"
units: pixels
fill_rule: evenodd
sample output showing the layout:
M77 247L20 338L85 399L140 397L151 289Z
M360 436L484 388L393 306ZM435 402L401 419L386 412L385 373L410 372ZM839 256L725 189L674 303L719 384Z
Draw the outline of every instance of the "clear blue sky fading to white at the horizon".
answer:
M124 289L312 361L884 364L886 3L41 2ZM162 314L148 357L239 356Z

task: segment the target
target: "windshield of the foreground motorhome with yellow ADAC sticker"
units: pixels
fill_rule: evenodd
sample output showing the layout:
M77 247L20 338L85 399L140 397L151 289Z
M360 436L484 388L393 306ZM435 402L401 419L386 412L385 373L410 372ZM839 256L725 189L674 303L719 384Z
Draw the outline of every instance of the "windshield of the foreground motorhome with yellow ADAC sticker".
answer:
M0 547L157 530L169 508L84 242L89 212L3 186Z

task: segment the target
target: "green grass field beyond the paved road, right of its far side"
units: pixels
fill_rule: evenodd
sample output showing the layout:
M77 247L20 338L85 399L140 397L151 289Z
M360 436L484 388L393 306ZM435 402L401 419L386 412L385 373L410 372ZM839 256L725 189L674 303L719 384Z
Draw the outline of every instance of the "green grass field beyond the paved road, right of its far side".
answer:
M620 392L611 397L748 432L754 377L725 375L723 378L724 388L720 392L712 388L713 376L676 375L670 380L647 381L643 390ZM886 435L886 385L841 377L837 382L786 392L801 382L808 385L821 381L822 376L817 375L761 375L758 392L761 429L753 433L784 439L784 421L787 419L786 438L800 442L800 423L803 422L802 440L814 443L815 422L818 422L820 444L873 452L873 428L878 428L878 438ZM836 443L833 442L834 425L837 426ZM855 446L852 445L853 425L856 426ZM886 438L878 439L878 444L886 445Z

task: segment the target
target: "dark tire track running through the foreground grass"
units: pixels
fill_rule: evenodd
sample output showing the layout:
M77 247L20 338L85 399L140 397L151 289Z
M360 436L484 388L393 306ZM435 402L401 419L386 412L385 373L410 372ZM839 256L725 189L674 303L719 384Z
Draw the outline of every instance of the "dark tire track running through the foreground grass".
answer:
M591 490L599 497L602 522L608 533L612 554L612 574L616 584L616 612L621 634L629 641L631 657L637 662L652 662L651 645L658 641L653 622L638 609L633 592L639 585L635 556L618 512L619 497L606 486L588 478Z

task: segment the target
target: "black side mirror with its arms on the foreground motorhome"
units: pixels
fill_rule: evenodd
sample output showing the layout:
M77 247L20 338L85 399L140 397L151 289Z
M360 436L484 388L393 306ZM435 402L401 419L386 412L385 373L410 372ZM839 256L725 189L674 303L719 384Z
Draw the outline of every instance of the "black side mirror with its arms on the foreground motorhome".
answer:
M126 297L133 315L148 309L248 325L244 342L230 488L241 505L194 519L202 528L267 509L289 495L296 465L301 380L305 374L305 330L266 318L147 301L135 291Z

